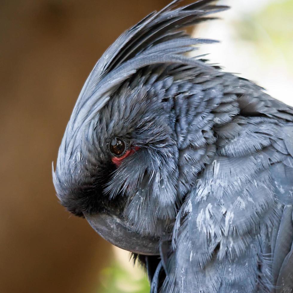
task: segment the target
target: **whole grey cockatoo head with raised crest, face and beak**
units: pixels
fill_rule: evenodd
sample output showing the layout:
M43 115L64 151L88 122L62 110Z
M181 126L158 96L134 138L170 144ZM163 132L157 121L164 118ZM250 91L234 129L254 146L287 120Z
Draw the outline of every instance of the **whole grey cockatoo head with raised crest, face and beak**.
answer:
M174 103L188 89L175 79L191 77L173 72L213 70L183 55L212 41L178 30L226 9L205 0L172 10L178 2L123 33L94 66L53 172L62 205L113 244L144 254L158 252L157 239L171 231L184 196Z

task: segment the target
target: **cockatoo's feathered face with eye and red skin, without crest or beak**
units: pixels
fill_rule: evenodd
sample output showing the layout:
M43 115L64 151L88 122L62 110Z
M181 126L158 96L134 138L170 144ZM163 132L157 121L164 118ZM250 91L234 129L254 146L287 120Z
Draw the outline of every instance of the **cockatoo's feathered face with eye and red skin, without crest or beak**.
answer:
M89 122L67 126L53 174L62 205L78 216L115 214L143 236L164 233L179 204L164 103L126 83Z

